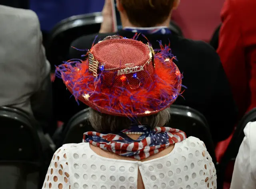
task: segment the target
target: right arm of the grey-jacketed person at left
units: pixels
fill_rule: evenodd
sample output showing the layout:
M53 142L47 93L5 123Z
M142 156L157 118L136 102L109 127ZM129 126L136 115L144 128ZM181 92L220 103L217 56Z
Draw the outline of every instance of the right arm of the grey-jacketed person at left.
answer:
M38 19L36 18L36 21ZM54 128L52 127L53 111L52 111L52 85L50 80L50 63L46 59L45 49L42 45L42 33L40 31L39 21L37 21L37 33L38 36L35 55L36 66L36 86L35 92L30 98L31 108L34 118L42 126L44 132L53 134Z

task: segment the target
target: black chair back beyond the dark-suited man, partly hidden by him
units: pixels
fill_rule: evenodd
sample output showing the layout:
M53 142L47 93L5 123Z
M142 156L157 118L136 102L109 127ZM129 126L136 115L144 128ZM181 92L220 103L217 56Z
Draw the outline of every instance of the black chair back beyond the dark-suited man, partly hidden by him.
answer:
M60 65L62 61L68 59L67 55L72 41L82 35L98 33L102 21L101 12L94 12L71 16L56 24L46 43L46 55L52 65L52 70L55 69L54 65ZM170 30L182 36L182 30L176 23L170 23Z

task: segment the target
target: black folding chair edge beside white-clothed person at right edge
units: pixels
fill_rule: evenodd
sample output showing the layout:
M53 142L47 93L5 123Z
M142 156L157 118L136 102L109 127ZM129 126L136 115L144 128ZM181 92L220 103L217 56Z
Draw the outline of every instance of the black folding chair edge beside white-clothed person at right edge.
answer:
M228 166L228 163L230 161L236 160L236 156L238 154L240 145L244 139L244 128L246 124L248 124L248 122L254 122L254 121L256 121L256 108L253 108L252 110L247 112L244 115L244 117L240 120L238 125L236 126L236 130L230 141L230 144L228 145L228 148L224 153L224 155L222 156L221 162L219 164L218 182L220 183L221 186L223 186L223 183L224 183L225 173L226 173L226 168Z

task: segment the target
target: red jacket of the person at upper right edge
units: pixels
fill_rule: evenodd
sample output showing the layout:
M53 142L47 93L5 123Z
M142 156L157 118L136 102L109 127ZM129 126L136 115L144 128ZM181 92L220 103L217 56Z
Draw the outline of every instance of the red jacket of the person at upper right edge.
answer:
M220 55L239 116L256 107L256 1L226 0L221 12Z

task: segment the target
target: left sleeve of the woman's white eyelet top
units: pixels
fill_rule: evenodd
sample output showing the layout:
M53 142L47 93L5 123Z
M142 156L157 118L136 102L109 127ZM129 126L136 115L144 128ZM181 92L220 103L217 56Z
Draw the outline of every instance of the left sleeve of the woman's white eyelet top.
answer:
M67 151L62 146L54 153L42 189L70 189Z

